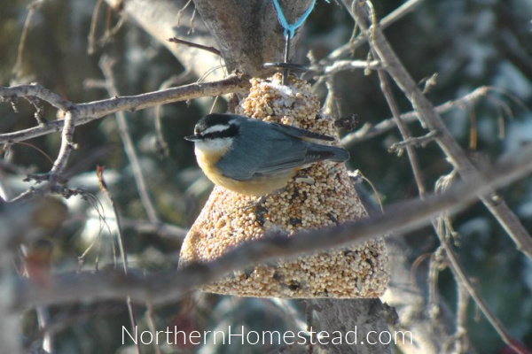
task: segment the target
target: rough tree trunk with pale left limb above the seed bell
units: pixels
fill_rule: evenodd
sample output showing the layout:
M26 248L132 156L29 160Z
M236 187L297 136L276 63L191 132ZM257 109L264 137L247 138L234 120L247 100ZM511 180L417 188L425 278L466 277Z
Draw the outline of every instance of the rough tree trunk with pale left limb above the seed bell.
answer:
M205 50L185 47L168 42L170 37L178 37L189 42L215 46L221 51L226 71L239 70L251 77L272 73L264 69L266 62L284 60L284 29L271 1L263 0L196 0L196 10L201 18L193 21L193 32L189 33L193 5L181 12L179 26L177 13L184 8L186 1L171 0L106 0L134 19L140 27L164 44L174 56L197 75L220 65L220 59ZM297 2L281 1L286 19L293 23L309 8L311 0ZM299 39L296 31L291 41L292 47ZM291 50L293 51L293 50ZM275 69L274 69L275 71ZM219 79L223 71L217 71Z

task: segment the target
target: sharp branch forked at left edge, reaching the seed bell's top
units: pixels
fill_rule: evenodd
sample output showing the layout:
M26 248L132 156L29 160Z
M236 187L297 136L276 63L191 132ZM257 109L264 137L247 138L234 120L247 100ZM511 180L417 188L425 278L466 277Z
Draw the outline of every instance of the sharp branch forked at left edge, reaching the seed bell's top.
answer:
M134 112L158 104L171 104L204 96L219 96L234 92L242 93L246 92L247 89L249 89L248 81L238 75L230 75L219 81L192 83L178 88L163 89L137 96L113 97L88 104L74 104L66 101L59 95L39 85L21 85L12 88L0 87L0 97L3 100L10 101L15 97L36 96L61 111L75 110L77 117L74 124L80 126L119 111ZM64 124L64 120L54 120L48 122L44 127L31 127L14 133L6 133L0 135L0 143L20 142L36 136L59 132Z

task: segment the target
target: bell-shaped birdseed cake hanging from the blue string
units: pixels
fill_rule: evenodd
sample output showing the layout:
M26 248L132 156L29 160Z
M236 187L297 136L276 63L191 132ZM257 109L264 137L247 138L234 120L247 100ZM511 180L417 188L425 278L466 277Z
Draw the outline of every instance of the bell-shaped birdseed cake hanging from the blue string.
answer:
M276 74L251 83L249 96L239 104L237 114L331 135L336 138L332 143L339 142L332 117L321 112L307 82L290 77L283 86ZM301 230L367 217L346 165L331 161L302 169L286 188L254 205L258 199L215 186L184 240L180 266L219 258L271 230L285 230L290 237ZM356 247L233 272L200 290L258 297L377 297L386 290L388 277L387 250L379 238Z

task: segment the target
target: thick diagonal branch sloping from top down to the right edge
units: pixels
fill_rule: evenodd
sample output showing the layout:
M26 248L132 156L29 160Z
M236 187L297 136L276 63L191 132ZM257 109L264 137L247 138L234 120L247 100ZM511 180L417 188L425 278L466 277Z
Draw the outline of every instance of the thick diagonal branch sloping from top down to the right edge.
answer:
M344 0L344 3L350 10L351 1ZM363 14L364 11L350 12L351 16L364 32L370 33L370 23ZM464 150L450 135L449 129L445 127L442 119L434 110L434 106L421 93L418 85L412 80L410 73L406 71L403 64L397 58L395 51L392 50L386 37L379 27L371 29L372 47L379 53L382 64L386 67L387 72L392 76L400 89L409 98L419 119L431 130L436 130L438 136L436 142L445 153L450 164L458 170L458 173L465 181L475 180L478 177L478 171L473 163L466 157ZM487 196L489 195L489 196ZM489 209L489 212L497 219L508 235L515 242L517 249L522 251L528 258L532 259L532 236L522 226L517 216L508 208L505 201L500 196L490 191L487 195L480 196L482 203Z

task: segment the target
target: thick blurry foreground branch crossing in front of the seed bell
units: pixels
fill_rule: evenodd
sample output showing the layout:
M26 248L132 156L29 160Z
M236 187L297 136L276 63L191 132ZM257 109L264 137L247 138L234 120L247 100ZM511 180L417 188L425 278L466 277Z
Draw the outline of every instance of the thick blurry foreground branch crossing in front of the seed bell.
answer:
M394 235L411 231L430 222L441 212L457 212L472 203L477 196L532 172L532 146L525 147L502 158L478 180L463 181L439 196L427 195L425 200L413 200L387 209L383 215L361 219L338 227L305 232L301 235L266 237L248 242L228 251L222 258L203 265L191 265L176 272L168 271L147 279L130 276L117 277L116 273L82 273L81 276L58 276L52 286L39 288L27 281L18 284L13 307L17 310L35 304L59 304L79 301L81 298L121 298L124 292L136 302L153 304L176 301L184 292L213 281L233 270L273 261L278 258L296 257L316 250L340 247L354 242L361 243L378 235L393 231Z

